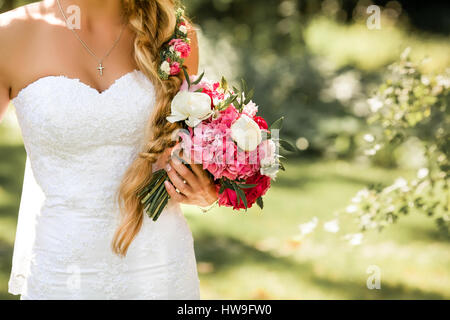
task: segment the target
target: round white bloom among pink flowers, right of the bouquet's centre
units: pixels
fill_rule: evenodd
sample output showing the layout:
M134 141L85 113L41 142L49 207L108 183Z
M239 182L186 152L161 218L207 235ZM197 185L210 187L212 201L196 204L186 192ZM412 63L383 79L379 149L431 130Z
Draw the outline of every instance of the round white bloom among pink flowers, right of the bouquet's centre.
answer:
M253 151L261 143L261 129L252 118L242 114L231 126L231 138L242 150Z

